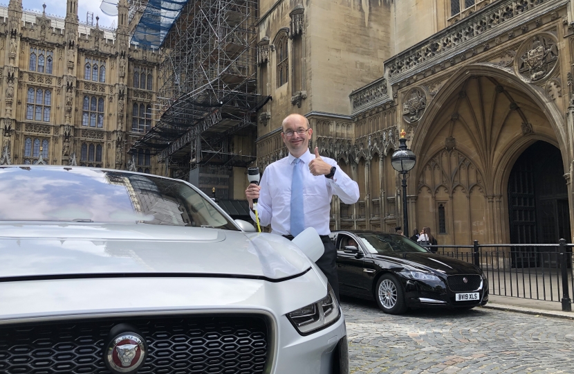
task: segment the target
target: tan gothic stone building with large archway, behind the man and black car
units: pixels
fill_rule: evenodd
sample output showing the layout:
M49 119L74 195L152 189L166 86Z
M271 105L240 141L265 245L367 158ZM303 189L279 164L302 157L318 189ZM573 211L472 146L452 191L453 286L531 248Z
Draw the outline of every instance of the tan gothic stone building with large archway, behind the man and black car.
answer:
M440 244L573 240L574 1L261 0L258 163L286 114L360 186L332 229L409 227ZM407 196L391 167L404 129ZM409 233L410 234L410 233Z

